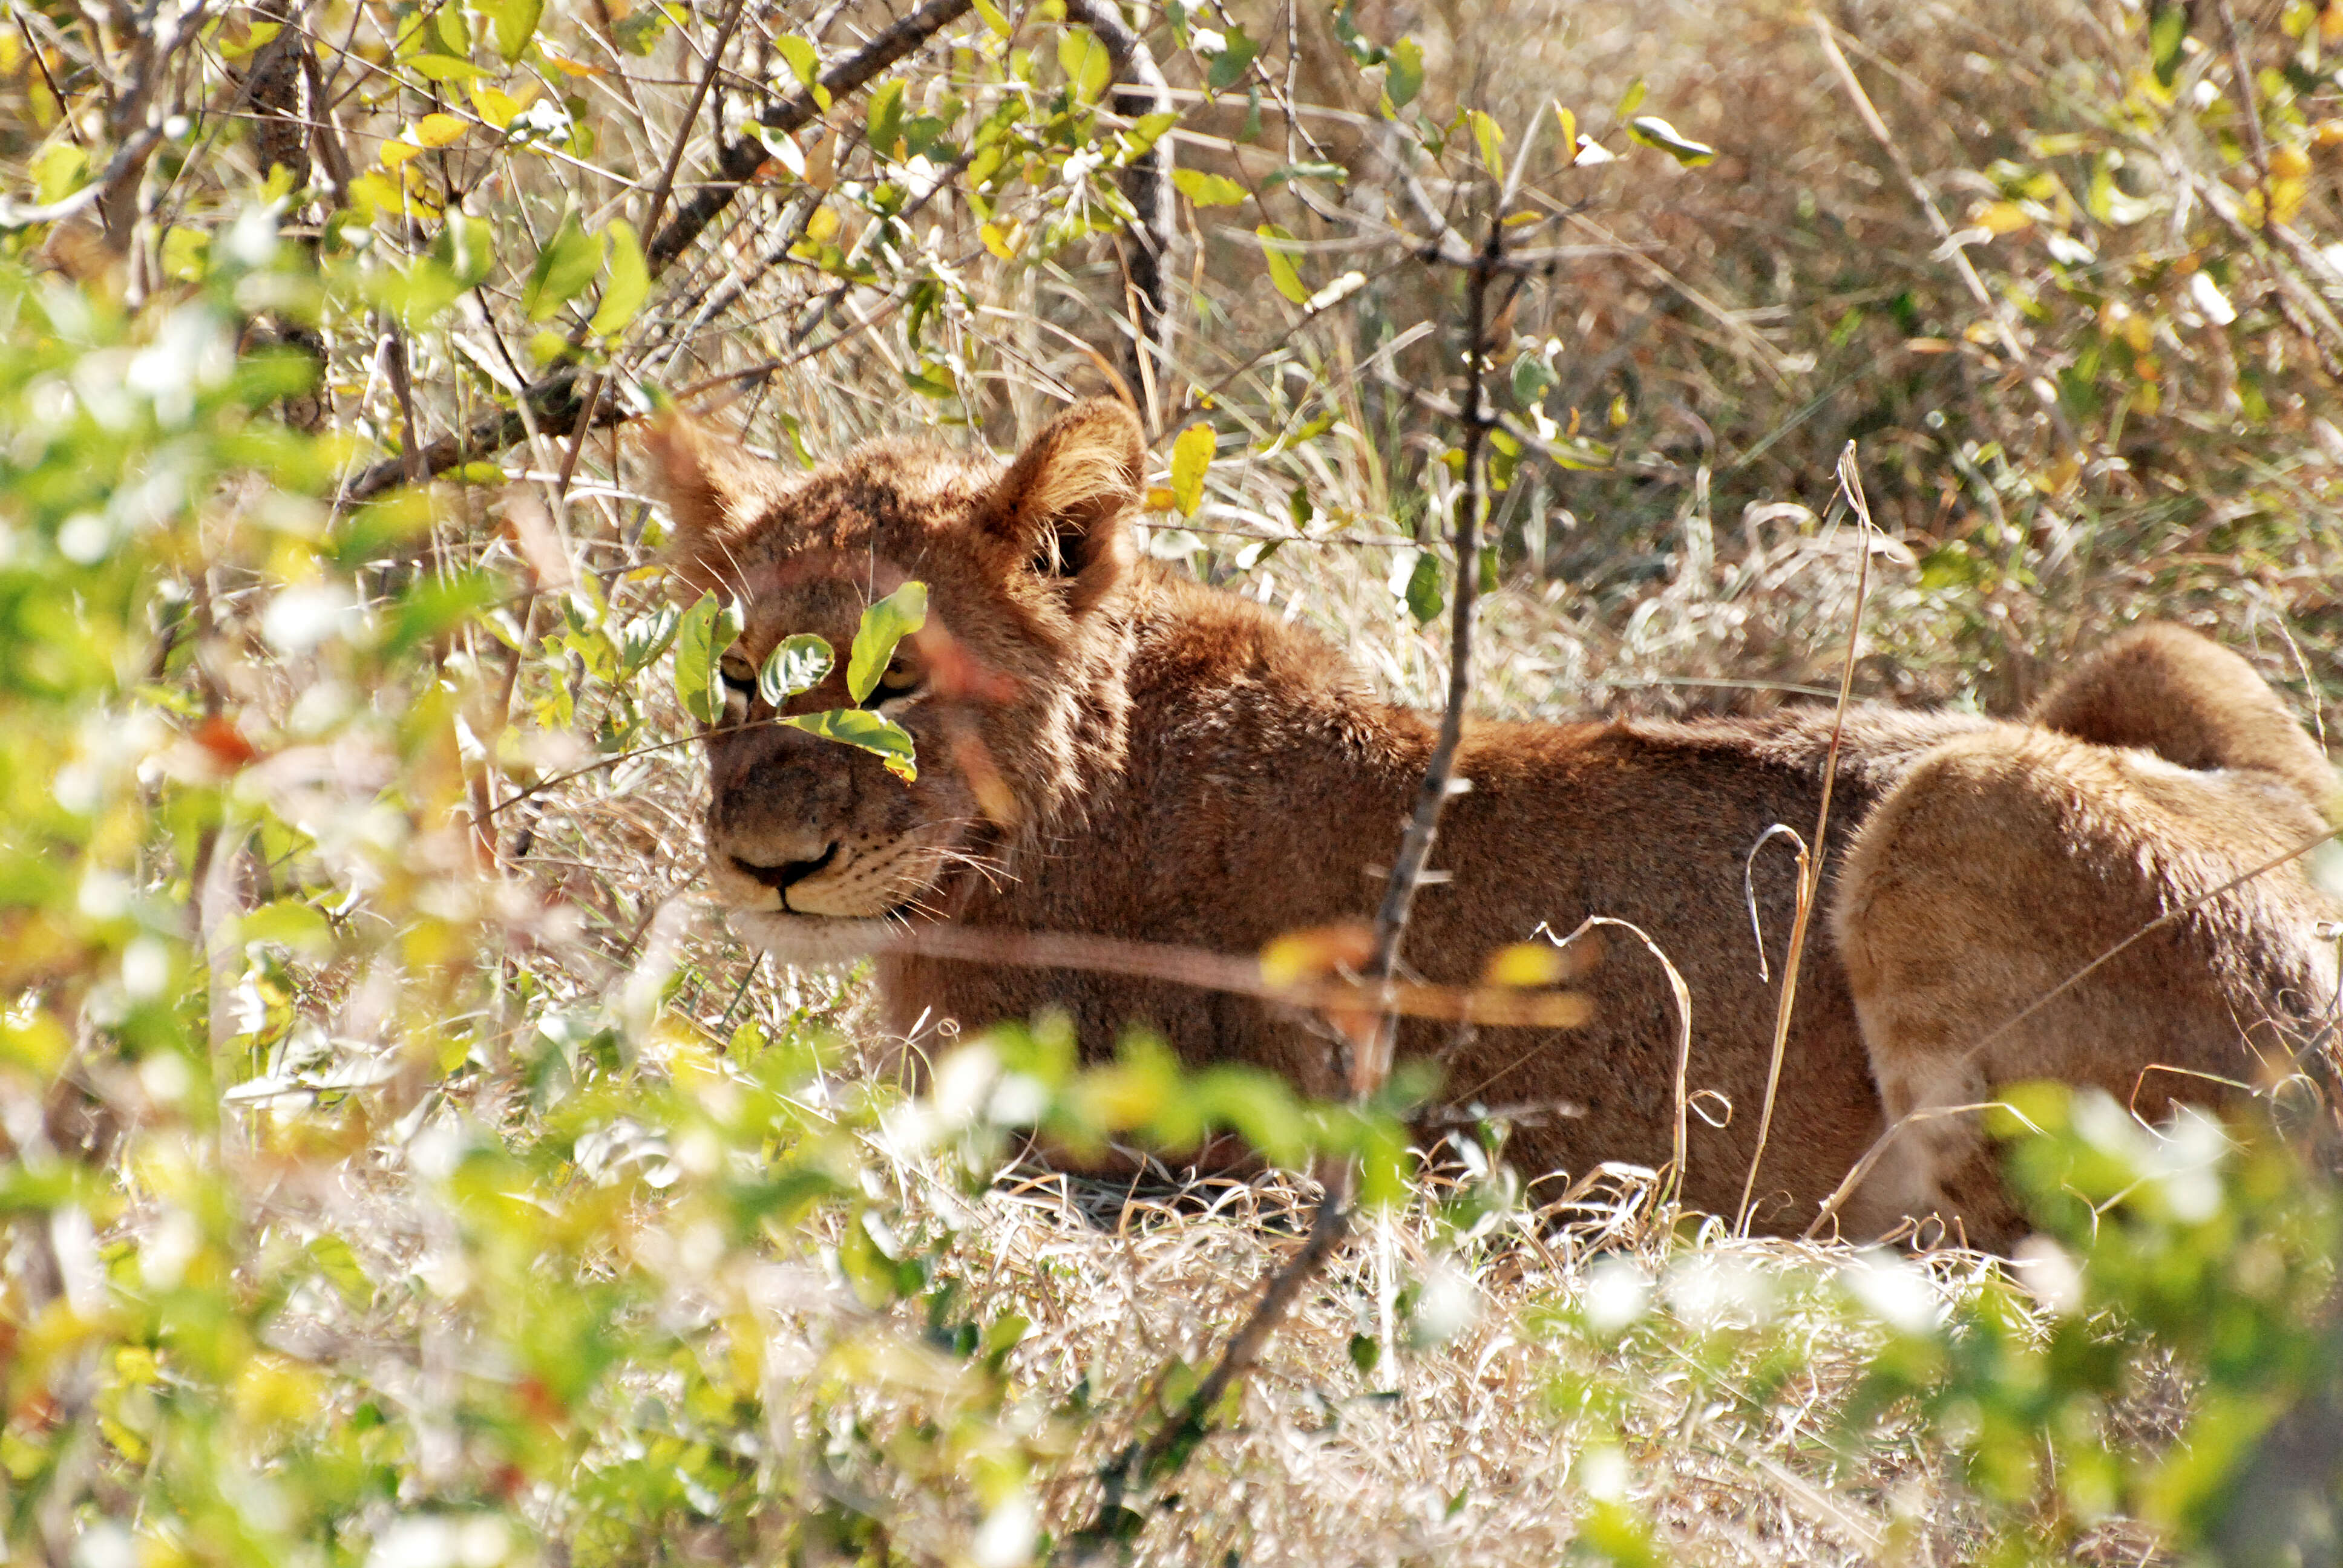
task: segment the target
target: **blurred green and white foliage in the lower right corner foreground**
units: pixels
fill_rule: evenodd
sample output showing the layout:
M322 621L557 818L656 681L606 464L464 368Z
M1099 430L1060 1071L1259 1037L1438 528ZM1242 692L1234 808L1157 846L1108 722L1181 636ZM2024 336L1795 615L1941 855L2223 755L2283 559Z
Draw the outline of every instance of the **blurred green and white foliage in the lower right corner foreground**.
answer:
M1664 1556L1631 1463L1657 1455L1624 1453L1619 1430L1645 1380L1689 1376L1710 1441L1802 1404L1832 1465L1879 1444L1947 1453L1980 1505L1966 1561L2097 1559L2118 1521L2172 1561L2315 1561L2343 1509L2329 1160L2261 1109L2149 1130L2052 1083L2008 1106L2008 1174L2041 1226L2015 1261L1865 1249L1816 1270L1724 1242L1596 1263L1551 1317L1579 1348L1553 1399L1607 1474L1589 1486L1593 1554ZM1858 1376L1823 1378L1816 1345L1846 1329L1872 1348Z

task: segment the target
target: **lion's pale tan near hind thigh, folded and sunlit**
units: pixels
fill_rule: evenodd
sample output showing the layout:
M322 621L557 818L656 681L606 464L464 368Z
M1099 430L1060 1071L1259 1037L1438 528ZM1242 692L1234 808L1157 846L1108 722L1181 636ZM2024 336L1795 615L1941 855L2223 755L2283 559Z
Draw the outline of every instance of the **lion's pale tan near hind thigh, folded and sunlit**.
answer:
M2322 832L2270 769L2034 727L1935 750L1872 813L1837 909L1888 1118L2057 1078L2156 1120L2324 1073L2303 1057L2331 1050L2334 907L2287 860ZM1928 1212L2015 1226L1970 1116L1900 1132L1849 1223Z

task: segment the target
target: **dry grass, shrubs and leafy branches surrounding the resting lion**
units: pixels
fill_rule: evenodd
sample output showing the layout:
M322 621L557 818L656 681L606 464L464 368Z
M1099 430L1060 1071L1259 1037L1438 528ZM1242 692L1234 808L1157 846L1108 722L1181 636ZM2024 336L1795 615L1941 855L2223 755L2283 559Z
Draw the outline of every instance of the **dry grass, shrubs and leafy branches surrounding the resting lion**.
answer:
M1118 1467L1307 1198L996 1181L1005 1127L1394 1123L1047 1024L911 1097L855 977L740 952L626 429L1120 389L1148 548L1410 701L1460 565L1485 710L1830 689L1870 548L1860 696L2010 710L2163 614L2324 734L2338 66L2306 0L9 0L7 1549L2331 1561L2306 1080L2024 1102L2017 1268L1382 1158Z

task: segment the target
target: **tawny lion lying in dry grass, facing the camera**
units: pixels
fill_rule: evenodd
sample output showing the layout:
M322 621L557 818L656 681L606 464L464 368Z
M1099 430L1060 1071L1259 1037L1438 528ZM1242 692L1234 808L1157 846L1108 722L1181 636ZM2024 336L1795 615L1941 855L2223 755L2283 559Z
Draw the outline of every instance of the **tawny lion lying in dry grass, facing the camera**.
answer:
M902 1034L1059 1010L1089 1055L1148 1024L1193 1064L1338 1092L1324 1029L1272 1001L883 942L949 923L1256 954L1378 902L1434 720L1380 701L1310 630L1139 558L1146 455L1122 405L1073 405L1007 466L874 443L785 473L686 422L654 448L679 591L745 605L705 741L705 832L708 881L750 940L804 963L876 947ZM911 783L766 722L754 680L785 635L843 649L904 581L928 586L930 630L867 701L914 736ZM832 673L785 710L848 703ZM1406 930L1406 970L1439 984L1589 914L1647 933L1692 996L1701 1113L1680 1179L1706 1212L1736 1212L1757 1153L1797 895L1795 855L1753 851L1778 823L1811 832L1832 729L1828 708L1469 722L1469 788ZM2338 909L2298 851L2329 830L2331 792L2252 666L2174 626L2116 638L2017 722L1846 710L1828 923L1797 977L1757 1228L1809 1223L1912 1118L1839 1209L1846 1230L1938 1216L2010 1238L1977 1118L1931 1109L2048 1076L2158 1118L2291 1076L2306 1052L2324 1069ZM1528 1174L1673 1153L1668 975L1619 940L1584 984L1582 1029L1399 1034L1401 1057L1439 1064L1446 1104L1507 1109Z

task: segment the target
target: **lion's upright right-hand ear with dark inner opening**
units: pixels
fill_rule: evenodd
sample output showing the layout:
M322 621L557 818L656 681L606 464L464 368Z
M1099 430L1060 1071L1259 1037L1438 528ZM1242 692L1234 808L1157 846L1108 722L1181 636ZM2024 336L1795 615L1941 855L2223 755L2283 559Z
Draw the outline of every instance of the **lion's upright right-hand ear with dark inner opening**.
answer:
M1146 448L1139 420L1122 403L1075 403L1047 424L984 506L984 527L1007 539L1026 570L1068 586L1066 602L1087 609L1132 570L1132 534L1122 520L1139 506Z

